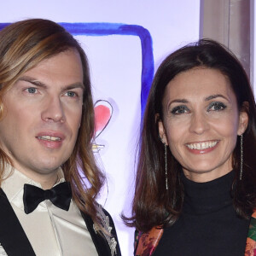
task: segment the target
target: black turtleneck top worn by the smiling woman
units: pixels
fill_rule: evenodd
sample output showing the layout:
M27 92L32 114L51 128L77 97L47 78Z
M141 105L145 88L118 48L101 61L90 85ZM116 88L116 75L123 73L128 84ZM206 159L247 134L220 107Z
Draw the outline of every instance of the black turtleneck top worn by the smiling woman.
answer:
M230 196L234 172L207 182L182 177L183 213L164 230L154 256L244 256L249 220L236 215Z

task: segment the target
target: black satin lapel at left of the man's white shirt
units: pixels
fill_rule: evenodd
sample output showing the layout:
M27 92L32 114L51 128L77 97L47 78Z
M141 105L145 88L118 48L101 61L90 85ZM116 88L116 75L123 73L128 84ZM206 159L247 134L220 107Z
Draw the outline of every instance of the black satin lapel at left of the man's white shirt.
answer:
M36 255L3 189L0 189L0 243L9 256Z

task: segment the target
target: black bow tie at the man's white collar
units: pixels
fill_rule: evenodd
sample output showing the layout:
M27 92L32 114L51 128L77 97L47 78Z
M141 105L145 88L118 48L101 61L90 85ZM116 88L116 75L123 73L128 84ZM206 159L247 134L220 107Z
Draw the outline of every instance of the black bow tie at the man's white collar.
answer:
M70 183L59 183L52 189L40 189L36 186L25 184L24 185L24 211L26 214L33 212L41 201L49 199L55 207L59 207L68 211L72 192Z

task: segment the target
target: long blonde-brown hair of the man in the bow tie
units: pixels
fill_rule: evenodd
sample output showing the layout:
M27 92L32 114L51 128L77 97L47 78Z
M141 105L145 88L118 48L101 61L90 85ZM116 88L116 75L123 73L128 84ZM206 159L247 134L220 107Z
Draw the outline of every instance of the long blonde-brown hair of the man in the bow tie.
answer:
M79 52L84 73L84 97L81 125L73 154L62 165L65 178L71 183L73 200L82 212L90 215L96 224L96 195L105 179L97 168L92 152L94 137L94 108L90 89L90 74L84 50L73 36L53 21L32 19L15 22L0 32L0 119L3 118L3 95L27 70L68 49ZM1 132L1 131L0 131ZM3 167L11 160L0 148L0 185ZM84 183L83 177L89 181Z

